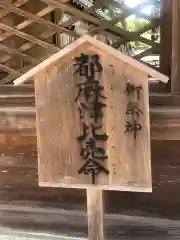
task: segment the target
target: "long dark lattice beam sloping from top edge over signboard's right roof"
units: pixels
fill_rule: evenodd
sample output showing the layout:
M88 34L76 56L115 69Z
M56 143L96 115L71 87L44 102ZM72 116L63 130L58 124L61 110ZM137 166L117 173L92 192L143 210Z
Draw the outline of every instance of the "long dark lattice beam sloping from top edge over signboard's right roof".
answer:
M113 26L109 21L107 20L99 20L96 17L93 17L92 15L87 14L85 11L80 11L74 7L72 7L69 4L62 4L56 0L42 0L44 3L48 4L48 5L52 5L55 6L57 8L60 8L62 11L64 12L69 12L72 15L76 15L79 16L82 20L86 20L89 21L95 25L100 25L101 27L103 27L104 29L109 30L110 32L113 32L116 35L120 35L120 36L124 36L126 38L128 38L129 40L138 40L140 42L143 42L147 45L150 46L154 46L154 45L159 45L158 43L154 43L149 39L143 38L141 36L137 36L137 34L133 33L133 32L128 32L125 31L124 29L120 28L120 27L116 27Z

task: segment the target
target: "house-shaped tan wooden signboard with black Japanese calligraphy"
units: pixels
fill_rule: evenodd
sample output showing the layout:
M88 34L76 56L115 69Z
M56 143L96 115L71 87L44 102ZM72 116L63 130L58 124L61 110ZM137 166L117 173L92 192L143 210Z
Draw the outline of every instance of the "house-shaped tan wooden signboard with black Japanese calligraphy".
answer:
M93 189L91 210L98 190L152 191L148 74L168 80L84 36L15 80L35 81L40 186Z

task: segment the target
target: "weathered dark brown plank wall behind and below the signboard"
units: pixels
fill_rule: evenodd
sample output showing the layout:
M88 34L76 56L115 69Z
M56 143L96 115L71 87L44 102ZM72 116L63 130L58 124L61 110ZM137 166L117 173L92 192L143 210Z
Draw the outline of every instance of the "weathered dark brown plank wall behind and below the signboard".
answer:
M0 88L1 94L9 91L11 96L8 106L0 108L1 225L86 237L86 192L38 187L35 108L14 108L10 89ZM23 94L32 93L23 86L13 91L20 94L22 89ZM105 217L109 239L169 240L180 235L179 221L166 220L180 216L180 140L168 140L179 139L180 111L178 106L150 110L153 193L105 193L106 213L119 216Z

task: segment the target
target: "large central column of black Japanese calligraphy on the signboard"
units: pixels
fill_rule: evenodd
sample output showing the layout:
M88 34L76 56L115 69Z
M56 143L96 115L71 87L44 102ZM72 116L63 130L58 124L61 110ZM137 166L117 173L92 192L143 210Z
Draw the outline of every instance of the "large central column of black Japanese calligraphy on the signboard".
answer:
M82 53L75 61L74 75L81 77L81 82L76 84L78 93L75 98L82 120L82 135L77 137L77 141L81 147L80 157L84 161L78 173L90 174L92 184L95 184L98 174L109 174L104 166L108 159L104 142L108 136L102 130L103 109L106 107L104 101L107 98L103 95L104 87L99 80L103 67L98 55Z

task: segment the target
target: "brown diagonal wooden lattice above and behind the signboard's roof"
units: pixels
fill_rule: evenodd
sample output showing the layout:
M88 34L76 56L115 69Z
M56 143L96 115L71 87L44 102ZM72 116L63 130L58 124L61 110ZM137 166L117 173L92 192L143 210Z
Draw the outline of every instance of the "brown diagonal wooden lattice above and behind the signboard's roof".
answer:
M144 0L130 8L117 0L0 0L0 84L12 82L84 33L127 53L127 42L139 42L143 51L129 53L138 60L159 53L160 43L144 36L159 26L158 15L141 11L150 4ZM133 14L147 20L137 31L124 27Z

